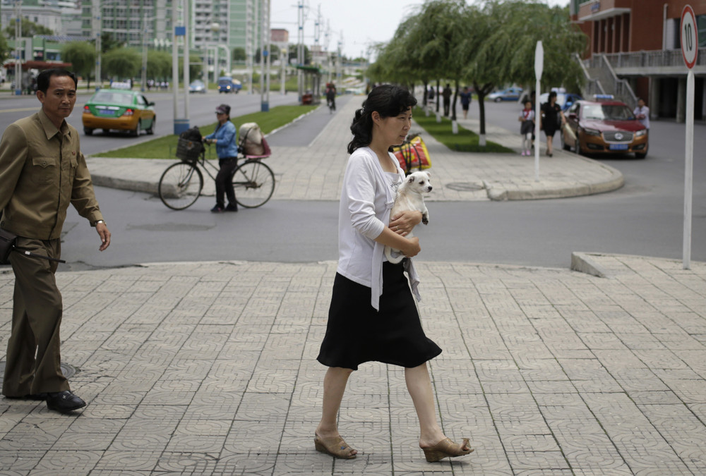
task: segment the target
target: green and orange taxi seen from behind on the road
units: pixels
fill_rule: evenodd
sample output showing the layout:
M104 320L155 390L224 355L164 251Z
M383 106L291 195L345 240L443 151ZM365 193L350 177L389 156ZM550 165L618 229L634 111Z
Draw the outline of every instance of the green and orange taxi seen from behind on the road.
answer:
M83 106L83 132L91 135L95 129L125 130L140 135L141 130L155 133L157 114L155 103L141 92L121 89L96 91Z

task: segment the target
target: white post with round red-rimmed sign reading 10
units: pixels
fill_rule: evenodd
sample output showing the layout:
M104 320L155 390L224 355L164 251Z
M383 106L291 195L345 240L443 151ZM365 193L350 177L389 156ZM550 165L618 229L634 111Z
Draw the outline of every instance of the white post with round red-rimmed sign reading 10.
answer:
M681 12L681 54L689 69L686 75L686 154L684 164L684 241L682 248L683 268L690 269L691 261L691 202L693 196L694 171L694 72L698 54L698 30L696 16L690 5Z

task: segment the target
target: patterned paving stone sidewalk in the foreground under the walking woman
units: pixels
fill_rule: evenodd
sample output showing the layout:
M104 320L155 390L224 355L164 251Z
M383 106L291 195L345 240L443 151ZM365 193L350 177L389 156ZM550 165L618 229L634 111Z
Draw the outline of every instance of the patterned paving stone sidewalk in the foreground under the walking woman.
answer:
M476 448L438 464L417 448L402 370L377 363L354 373L340 416L359 457L314 451L333 262L58 274L62 354L88 406L0 400L0 473L705 474L706 264L592 259L608 277L419 262L443 428Z

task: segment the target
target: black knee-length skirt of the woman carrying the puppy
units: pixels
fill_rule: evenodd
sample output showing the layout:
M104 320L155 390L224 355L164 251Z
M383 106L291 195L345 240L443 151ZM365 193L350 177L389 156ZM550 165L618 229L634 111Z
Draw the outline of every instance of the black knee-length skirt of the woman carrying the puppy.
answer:
M421 329L401 263L383 263L380 312L371 306L370 293L369 287L336 274L319 362L353 370L370 361L417 367L441 353Z

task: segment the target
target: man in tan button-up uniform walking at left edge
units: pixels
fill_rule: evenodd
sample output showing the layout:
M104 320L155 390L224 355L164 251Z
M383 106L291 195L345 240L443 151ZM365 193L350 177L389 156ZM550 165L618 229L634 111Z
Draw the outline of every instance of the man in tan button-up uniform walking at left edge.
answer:
M69 71L40 73L37 99L42 109L12 123L0 140L0 227L18 236L18 248L53 258L61 255L69 203L95 226L99 249L110 245L78 131L65 120L76 104L76 87L76 75ZM63 306L54 278L56 263L18 252L10 262L15 291L3 395L44 399L49 409L60 412L85 406L61 372Z

